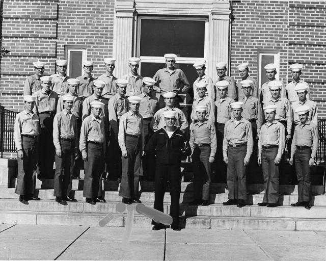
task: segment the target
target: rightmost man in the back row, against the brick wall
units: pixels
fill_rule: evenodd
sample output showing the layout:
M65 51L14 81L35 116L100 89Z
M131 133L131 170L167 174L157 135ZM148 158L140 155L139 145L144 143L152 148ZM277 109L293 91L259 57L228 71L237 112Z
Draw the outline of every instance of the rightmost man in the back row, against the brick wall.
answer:
M297 84L302 84L306 85L307 89L307 99L310 99L310 94L309 94L309 85L302 79L300 79L300 76L302 74L302 64L300 63L294 63L290 65L290 70L292 74L293 81L288 83L285 87L287 98L291 102L291 104L295 101L299 100L299 97L297 95L297 92L295 91L295 87Z

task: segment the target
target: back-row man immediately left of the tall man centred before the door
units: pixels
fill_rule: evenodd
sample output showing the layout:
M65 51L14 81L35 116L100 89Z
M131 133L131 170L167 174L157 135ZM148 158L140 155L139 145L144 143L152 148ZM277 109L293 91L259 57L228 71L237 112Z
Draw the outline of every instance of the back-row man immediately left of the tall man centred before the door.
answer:
M141 59L131 57L128 59L129 71L121 79L127 80L126 97L140 95L142 93L143 77L138 74Z

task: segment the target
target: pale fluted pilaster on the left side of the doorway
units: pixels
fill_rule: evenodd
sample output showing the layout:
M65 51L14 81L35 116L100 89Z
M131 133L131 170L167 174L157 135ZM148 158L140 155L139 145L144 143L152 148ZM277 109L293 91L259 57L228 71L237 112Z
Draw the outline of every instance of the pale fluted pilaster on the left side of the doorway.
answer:
M133 55L133 25L134 7L133 1L117 1L115 22L115 37L113 56L116 61L116 75L121 77L128 71L128 58Z

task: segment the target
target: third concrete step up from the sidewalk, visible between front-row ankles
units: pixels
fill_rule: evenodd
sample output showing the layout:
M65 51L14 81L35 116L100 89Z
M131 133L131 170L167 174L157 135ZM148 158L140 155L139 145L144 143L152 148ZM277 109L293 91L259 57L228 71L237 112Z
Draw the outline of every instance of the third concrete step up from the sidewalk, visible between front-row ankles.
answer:
M118 195L118 191L105 191L105 199L106 201L121 201L121 197ZM38 189L36 190L36 194L41 199L54 199L53 196L53 189ZM75 190L72 191L74 198L78 201L85 201L83 197L82 190ZM16 199L18 197L15 194L15 188L10 189L3 189L0 188L0 198L12 198ZM263 193L248 195L246 203L248 205L257 205L259 202L262 202L264 197ZM154 193L153 192L142 192L140 199L144 202L154 202ZM194 200L193 192L182 192L180 194L180 203L189 203ZM227 193L220 193L220 194L210 194L210 203L214 204L222 204L223 202L228 200ZM279 204L280 205L290 205L291 203L295 203L297 201L297 195L280 195L279 197ZM170 193L167 192L164 197L164 202L170 203L171 197ZM326 195L316 195L312 196L310 201L311 205L314 206L326 206Z

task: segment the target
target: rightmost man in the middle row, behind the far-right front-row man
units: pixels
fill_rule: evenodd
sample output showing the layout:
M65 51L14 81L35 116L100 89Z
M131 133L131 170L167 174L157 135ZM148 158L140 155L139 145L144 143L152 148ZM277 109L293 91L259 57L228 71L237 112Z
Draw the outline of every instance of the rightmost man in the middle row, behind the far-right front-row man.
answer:
M308 99L308 85L306 83L297 83L294 87L294 91L296 91L296 95L298 97L298 100L295 100L292 102L292 110L293 112L303 105L309 107L309 115L308 119L315 125L317 125L317 109L316 109L316 103L312 100ZM299 119L299 116L297 113L293 113L293 123L294 125L299 124L301 121ZM294 129L292 129L292 132Z

